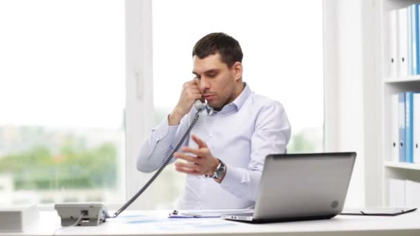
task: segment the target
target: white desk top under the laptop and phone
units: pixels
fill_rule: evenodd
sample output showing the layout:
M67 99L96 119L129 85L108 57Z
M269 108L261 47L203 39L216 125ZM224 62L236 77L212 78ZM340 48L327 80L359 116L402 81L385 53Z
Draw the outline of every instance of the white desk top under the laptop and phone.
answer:
M168 219L169 210L126 211L100 226L61 228L55 211L41 211L37 225L3 235L420 235L420 212L395 217L345 216L305 222L246 224L224 219ZM136 215L140 215L135 217ZM58 228L61 228L57 230Z

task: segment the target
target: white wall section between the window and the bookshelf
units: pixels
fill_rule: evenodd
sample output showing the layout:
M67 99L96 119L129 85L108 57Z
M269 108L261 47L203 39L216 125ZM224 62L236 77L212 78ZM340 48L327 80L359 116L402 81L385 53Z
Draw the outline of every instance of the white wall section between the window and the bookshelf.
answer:
M356 151L346 206L375 205L379 108L370 65L373 1L325 0L325 151ZM375 106L376 104L376 106ZM367 197L365 197L367 193ZM379 194L379 193L376 193ZM378 203L380 204L380 203Z

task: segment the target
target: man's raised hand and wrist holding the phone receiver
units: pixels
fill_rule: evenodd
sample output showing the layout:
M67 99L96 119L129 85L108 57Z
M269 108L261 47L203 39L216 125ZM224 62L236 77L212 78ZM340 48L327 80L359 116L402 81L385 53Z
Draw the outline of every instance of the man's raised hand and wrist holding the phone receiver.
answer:
M202 95L195 79L184 83L178 104L171 112L171 115L169 115L169 125L175 126L180 124L182 117L187 115L197 99L202 99Z

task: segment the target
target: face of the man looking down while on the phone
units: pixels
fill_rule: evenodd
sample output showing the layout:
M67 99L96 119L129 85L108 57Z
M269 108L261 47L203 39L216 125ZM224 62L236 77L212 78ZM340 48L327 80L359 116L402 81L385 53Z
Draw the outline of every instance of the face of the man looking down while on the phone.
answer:
M234 72L222 62L218 53L204 59L194 56L193 74L204 99L215 110L221 110L236 99L237 81Z

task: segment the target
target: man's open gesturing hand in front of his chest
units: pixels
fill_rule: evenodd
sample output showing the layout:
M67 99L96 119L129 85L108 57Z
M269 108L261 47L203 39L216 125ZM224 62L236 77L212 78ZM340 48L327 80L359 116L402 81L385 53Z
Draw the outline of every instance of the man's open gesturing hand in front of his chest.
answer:
M184 147L182 148L182 151L184 153L192 153L195 157L182 153L173 154L173 156L178 159L189 161L188 163L180 161L175 162L175 170L190 175L213 175L214 170L216 170L219 164L219 160L216 157L213 157L204 141L195 135L191 135L191 137L193 138L193 141L198 144L198 148ZM222 181L222 178L219 180Z

